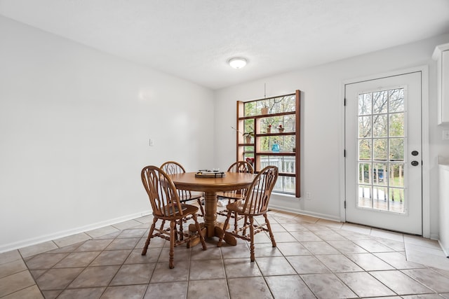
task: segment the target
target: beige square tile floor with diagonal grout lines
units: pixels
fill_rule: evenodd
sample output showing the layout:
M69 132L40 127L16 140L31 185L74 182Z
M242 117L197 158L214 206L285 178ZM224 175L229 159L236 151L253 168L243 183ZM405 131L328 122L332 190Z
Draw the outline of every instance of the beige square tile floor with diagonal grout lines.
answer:
M175 249L154 239L151 216L0 253L0 298L449 298L438 243L348 223L270 211L277 247Z

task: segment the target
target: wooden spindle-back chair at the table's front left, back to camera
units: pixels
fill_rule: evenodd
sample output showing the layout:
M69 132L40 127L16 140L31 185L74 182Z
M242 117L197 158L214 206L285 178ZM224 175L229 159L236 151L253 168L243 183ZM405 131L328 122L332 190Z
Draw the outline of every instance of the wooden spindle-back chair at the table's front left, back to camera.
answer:
M147 254L149 242L154 237L161 237L170 242L170 258L168 261L168 267L170 269L175 267L175 246L184 243L188 245L189 242L196 242L196 238L199 238L203 245L203 250L206 250L206 242L201 234L201 227L196 218L198 207L180 202L173 181L159 167L144 167L140 176L153 210L153 223L149 229L147 242L145 242L145 246L142 249L142 256ZM186 217L192 217L196 232L184 233L176 230L176 223L182 223ZM161 220L161 225L156 227L156 222L159 220ZM167 228L166 221L170 223L170 226Z

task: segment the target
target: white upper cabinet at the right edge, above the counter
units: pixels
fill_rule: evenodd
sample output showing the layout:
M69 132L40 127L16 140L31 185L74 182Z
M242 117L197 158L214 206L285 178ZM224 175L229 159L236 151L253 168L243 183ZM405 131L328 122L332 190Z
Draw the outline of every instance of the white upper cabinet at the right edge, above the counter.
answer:
M438 125L449 124L449 43L436 46L432 58L437 71Z

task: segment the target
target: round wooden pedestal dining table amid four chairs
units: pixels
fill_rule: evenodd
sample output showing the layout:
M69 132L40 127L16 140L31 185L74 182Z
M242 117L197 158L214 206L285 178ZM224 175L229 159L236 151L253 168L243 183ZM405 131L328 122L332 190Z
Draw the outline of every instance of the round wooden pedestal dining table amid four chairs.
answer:
M224 223L217 223L217 192L248 188L253 183L255 174L225 172L225 176L217 178L196 177L195 174L196 172L171 174L170 178L176 188L204 192L206 236L218 237L222 233ZM231 245L236 244L236 240L229 237L225 238L225 242Z

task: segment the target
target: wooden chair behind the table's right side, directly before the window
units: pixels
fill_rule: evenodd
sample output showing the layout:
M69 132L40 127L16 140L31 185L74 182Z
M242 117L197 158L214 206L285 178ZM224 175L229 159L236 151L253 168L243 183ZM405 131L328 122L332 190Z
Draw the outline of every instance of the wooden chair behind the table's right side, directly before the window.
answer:
M247 174L253 174L254 168L253 165L246 161L237 161L232 163L231 166L227 169L227 172L242 172ZM218 201L227 201L228 203L236 202L237 200L243 200L246 197L246 188L240 190L231 190L217 193ZM227 209L222 209L217 211L218 215L227 216ZM240 218L237 214L233 213L232 218L234 218L234 228L237 229L237 222L243 217Z

